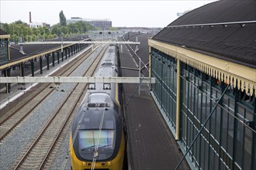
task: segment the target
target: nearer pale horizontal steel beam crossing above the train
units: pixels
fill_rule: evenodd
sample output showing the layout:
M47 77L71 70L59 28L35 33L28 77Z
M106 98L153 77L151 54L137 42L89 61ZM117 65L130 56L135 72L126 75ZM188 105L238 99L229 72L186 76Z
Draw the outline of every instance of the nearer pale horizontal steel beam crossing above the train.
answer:
M0 83L155 83L150 77L16 76L0 77Z

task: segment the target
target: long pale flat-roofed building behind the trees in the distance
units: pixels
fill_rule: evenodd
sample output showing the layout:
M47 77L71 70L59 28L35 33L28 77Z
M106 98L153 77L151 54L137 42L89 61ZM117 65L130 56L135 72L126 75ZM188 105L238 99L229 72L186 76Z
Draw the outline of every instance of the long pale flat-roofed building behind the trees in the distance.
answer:
M67 19L67 24L80 21L87 22L91 26L95 26L100 29L109 29L112 27L112 21L109 19L82 19L80 17L71 17L71 19Z

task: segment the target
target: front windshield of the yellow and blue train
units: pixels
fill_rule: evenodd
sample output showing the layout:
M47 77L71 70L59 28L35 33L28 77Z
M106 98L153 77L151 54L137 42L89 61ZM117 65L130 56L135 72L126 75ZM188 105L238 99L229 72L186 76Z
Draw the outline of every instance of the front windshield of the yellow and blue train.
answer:
M79 131L79 148L85 150L88 148L109 148L114 146L114 131L115 130L85 130Z

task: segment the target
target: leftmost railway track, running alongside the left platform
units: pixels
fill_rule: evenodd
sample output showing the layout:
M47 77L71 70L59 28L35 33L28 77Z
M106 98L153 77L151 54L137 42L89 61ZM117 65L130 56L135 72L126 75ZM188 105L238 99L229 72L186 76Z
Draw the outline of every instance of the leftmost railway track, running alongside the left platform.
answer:
M88 49L79 59L74 59L71 64L66 66L63 70L59 70L54 73L53 76L69 76L73 73L74 69L81 65L91 54L91 50ZM50 93L54 91L53 83L43 83L35 87L35 91L26 97L21 102L18 102L15 107L12 107L5 113L0 119L0 142L14 129L16 128L25 118L35 110L35 108L45 100ZM5 112L5 110L3 111Z

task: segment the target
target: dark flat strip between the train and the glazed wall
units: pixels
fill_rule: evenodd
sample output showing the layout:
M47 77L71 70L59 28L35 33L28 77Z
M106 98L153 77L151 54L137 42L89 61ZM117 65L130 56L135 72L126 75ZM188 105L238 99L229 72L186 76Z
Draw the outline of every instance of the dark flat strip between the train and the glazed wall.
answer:
M134 33L135 34L135 33ZM147 34L130 34L132 41L135 37L139 37L140 49L137 54L144 63L148 62ZM134 41L134 40L133 40ZM136 56L126 45L119 45L120 62L122 67L137 68ZM127 48L129 50L127 50ZM133 48L133 47L132 47ZM134 59L133 59L134 57ZM137 70L122 70L123 76L138 76ZM123 84L124 93L124 111L126 116L126 129L128 134L128 164L130 169L175 169L176 165L182 158L182 151L180 151L175 138L171 134L168 125L161 116L160 111L154 104L153 98L149 91L138 91L138 84ZM128 103L129 101L129 103ZM186 161L182 162L179 169L190 169Z

